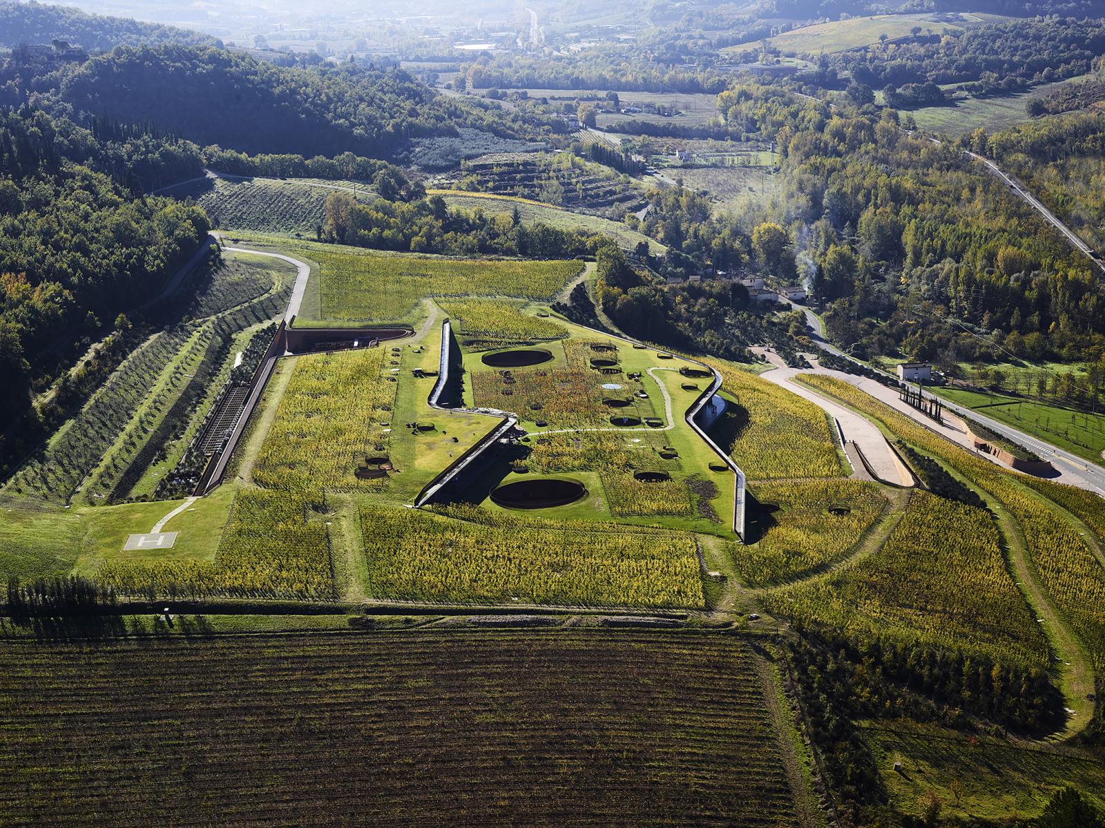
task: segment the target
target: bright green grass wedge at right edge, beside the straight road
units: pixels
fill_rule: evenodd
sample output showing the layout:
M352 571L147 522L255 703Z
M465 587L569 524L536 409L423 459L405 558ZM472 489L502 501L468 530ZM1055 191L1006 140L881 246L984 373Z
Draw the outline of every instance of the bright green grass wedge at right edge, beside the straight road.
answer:
M1105 415L1072 411L1001 394L953 388L938 390L941 397L953 402L1034 434L1086 460L1101 462L1102 451L1105 450Z

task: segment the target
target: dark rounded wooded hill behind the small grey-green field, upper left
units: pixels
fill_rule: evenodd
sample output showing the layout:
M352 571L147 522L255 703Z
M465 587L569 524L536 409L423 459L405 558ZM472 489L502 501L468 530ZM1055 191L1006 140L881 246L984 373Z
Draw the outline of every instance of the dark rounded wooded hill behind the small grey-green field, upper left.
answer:
M453 135L459 126L512 136L522 129L497 107L442 97L404 72L277 66L179 45L120 48L63 67L55 95L78 113L152 123L246 153L387 158L412 138Z

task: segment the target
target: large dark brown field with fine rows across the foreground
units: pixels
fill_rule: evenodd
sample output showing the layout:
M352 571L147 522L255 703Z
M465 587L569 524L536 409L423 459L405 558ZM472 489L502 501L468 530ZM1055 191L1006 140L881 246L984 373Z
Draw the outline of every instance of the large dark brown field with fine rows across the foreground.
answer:
M775 691L726 636L14 643L0 665L6 825L799 824Z

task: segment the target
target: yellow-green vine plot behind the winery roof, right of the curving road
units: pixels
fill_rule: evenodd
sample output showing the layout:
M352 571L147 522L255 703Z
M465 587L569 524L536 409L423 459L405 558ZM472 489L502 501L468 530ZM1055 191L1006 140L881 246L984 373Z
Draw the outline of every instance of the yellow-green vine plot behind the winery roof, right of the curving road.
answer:
M343 327L418 319L427 297L502 296L548 302L583 269L576 261L445 259L312 244L301 326Z

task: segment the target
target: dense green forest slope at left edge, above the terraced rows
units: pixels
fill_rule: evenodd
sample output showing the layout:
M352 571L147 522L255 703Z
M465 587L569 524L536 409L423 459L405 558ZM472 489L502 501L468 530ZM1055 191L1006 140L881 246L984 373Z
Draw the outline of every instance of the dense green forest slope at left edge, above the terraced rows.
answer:
M31 390L156 296L208 232L200 209L97 171L112 160L94 146L41 112L0 115L0 468L40 439Z

